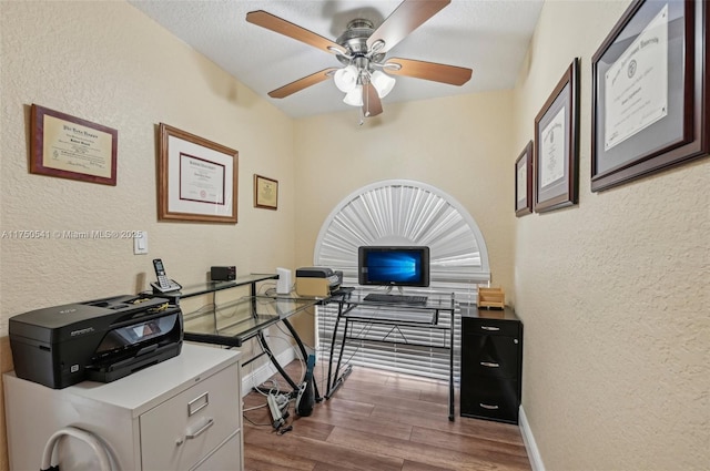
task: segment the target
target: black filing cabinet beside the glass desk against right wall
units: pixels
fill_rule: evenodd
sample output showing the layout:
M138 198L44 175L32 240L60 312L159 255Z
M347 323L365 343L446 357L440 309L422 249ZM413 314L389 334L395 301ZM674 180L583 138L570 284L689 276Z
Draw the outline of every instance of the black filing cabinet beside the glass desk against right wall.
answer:
M518 423L523 322L509 307L462 309L462 417Z

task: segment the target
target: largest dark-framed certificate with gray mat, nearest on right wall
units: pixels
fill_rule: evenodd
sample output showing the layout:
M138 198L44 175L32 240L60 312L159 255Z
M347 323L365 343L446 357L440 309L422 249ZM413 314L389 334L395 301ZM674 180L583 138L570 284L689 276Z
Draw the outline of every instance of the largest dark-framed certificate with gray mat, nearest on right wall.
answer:
M592 191L710 151L707 8L636 0L592 57Z

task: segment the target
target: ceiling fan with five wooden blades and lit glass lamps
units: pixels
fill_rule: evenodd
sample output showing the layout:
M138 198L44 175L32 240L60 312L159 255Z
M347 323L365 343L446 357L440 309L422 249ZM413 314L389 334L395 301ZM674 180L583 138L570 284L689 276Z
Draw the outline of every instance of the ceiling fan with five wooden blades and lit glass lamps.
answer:
M468 82L473 72L470 69L412 59L385 59L392 48L449 3L450 0L404 0L377 29L369 20L354 19L335 41L263 10L246 13L246 21L335 54L344 65L298 79L268 92L268 96L283 99L332 76L335 85L345 93L343 101L359 106L362 115L367 117L382 113L381 99L395 85L395 79L390 75L452 85Z

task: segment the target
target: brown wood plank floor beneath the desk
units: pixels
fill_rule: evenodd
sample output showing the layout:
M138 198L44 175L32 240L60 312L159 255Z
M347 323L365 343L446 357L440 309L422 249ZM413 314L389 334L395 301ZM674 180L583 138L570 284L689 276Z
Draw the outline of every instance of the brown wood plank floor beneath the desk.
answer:
M301 365L286 371L300 378ZM245 411L245 470L530 470L517 426L459 417L458 397L452 422L447 397L443 381L354 367L310 417L296 417L292 402L290 432L273 431L268 408ZM265 402L252 391L244 408Z

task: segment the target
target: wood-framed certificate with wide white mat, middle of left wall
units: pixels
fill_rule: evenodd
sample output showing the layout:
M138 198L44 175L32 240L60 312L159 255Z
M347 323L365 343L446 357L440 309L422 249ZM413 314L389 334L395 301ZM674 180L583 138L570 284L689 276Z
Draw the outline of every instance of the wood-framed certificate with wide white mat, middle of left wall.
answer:
M236 224L239 153L161 123L158 218Z

